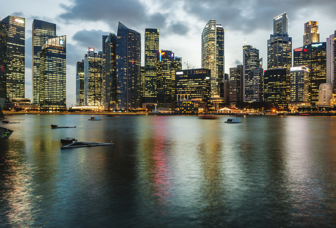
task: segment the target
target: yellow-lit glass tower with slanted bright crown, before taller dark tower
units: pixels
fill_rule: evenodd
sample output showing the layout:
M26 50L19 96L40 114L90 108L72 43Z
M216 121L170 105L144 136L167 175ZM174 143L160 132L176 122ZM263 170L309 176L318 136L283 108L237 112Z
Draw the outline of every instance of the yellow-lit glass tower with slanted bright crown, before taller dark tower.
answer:
M66 108L66 36L48 39L39 60L39 105L48 110Z

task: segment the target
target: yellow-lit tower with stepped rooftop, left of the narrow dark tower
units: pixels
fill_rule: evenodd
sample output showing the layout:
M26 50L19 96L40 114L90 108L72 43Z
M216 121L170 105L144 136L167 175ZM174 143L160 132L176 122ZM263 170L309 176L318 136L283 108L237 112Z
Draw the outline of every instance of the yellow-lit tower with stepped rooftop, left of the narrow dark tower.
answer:
M87 106L100 106L103 99L102 53L88 47L84 55L84 102Z

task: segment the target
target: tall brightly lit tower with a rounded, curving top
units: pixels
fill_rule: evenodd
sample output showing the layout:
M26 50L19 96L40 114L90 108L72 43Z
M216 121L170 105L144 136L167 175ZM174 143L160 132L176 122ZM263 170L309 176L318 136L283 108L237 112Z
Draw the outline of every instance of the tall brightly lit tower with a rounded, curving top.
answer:
M211 96L219 95L219 78L225 69L224 35L221 24L211 19L202 32L202 68L211 70Z

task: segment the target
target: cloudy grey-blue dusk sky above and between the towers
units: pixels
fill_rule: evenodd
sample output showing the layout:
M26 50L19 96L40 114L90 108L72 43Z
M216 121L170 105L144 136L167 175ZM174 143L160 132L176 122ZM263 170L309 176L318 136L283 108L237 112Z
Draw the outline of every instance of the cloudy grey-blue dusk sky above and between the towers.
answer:
M16 0L2 3L0 17L25 18L25 97L32 98L32 24L34 19L57 25L67 36L67 106L75 105L76 61L88 47L102 50L102 35L117 34L118 22L141 33L144 66L145 29L159 28L159 48L182 58L182 68L201 68L201 34L210 19L225 30L225 73L242 64L242 46L260 50L267 68L267 40L273 18L286 12L293 48L303 44L304 23L319 22L320 42L336 30L335 0ZM186 64L185 64L186 63Z

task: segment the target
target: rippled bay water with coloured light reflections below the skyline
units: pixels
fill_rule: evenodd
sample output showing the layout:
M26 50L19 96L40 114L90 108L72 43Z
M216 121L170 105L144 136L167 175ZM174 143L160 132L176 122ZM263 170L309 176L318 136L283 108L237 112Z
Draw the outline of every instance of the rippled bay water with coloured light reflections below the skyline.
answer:
M335 117L90 117L0 124L0 227L336 226Z

